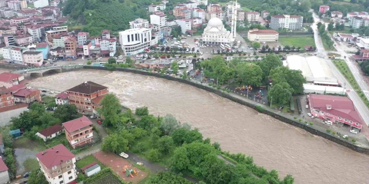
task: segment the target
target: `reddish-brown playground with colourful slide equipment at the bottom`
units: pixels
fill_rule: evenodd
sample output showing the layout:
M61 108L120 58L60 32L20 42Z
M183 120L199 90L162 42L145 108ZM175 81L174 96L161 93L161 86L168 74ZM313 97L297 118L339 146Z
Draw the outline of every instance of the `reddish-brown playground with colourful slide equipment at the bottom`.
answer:
M107 167L113 169L125 182L138 183L148 174L133 166L128 160L110 152L97 152L93 155Z

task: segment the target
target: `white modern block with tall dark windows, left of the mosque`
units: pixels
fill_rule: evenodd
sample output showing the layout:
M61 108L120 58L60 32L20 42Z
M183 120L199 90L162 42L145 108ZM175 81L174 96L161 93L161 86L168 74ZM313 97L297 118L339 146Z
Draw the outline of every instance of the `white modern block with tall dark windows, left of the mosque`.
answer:
M144 52L151 46L151 29L135 28L121 31L119 32L119 43L126 56Z

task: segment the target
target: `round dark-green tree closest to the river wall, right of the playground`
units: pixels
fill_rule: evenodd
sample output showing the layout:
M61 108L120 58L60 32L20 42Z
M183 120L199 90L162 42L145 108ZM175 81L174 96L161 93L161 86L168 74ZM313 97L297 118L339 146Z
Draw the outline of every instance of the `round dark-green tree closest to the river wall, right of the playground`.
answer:
M273 85L268 92L268 100L272 103L284 105L292 98L293 89L287 82L280 82Z

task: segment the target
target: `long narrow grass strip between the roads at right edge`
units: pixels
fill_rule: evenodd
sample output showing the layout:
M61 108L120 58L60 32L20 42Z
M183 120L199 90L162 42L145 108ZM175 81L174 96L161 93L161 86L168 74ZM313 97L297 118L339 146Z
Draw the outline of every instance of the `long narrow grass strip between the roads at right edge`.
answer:
M341 72L345 76L351 86L355 89L365 105L369 107L368 99L358 85L358 82L354 78L354 75L352 75L351 70L348 68L346 62L342 59L332 60L332 62L338 68L339 72Z

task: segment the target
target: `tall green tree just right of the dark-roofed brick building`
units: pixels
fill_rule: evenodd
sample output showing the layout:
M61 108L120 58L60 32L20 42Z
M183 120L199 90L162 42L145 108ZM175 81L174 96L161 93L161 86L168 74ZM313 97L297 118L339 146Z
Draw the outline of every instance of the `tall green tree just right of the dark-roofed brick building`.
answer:
M118 114L121 111L121 105L119 103L119 99L114 94L110 93L105 95L105 97L101 100L101 107L97 110L100 116L104 117L104 125L117 125L119 116Z

